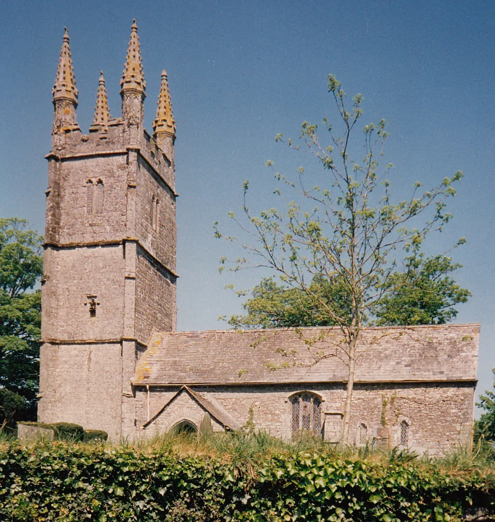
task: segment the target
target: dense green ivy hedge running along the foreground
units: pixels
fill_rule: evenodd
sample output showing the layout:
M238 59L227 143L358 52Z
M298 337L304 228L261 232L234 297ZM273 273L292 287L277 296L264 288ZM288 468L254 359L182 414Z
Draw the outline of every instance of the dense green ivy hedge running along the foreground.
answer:
M270 456L256 468L219 459L55 442L0 447L0 520L461 520L495 513L495 478L405 458Z

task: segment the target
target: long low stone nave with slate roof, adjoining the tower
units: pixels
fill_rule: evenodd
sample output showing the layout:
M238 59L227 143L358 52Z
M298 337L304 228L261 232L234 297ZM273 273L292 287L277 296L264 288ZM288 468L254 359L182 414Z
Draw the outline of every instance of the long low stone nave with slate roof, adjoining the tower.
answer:
M347 367L338 357L309 364L312 351L335 350L339 334L338 328L156 332L133 378L137 429L146 436L154 434L157 425L184 420L163 406L187 384L240 424L252 410L258 429L286 439L292 436L291 398L309 392L322 401L322 435L338 442ZM311 349L305 343L310 338L319 339ZM387 447L400 445L400 426L405 422L403 445L419 453L441 454L469 446L478 340L476 324L364 330L351 442L360 443L360 426L365 426L362 439L373 442L385 428ZM294 351L296 364L291 359L287 364L281 353ZM192 413L188 419L193 419Z

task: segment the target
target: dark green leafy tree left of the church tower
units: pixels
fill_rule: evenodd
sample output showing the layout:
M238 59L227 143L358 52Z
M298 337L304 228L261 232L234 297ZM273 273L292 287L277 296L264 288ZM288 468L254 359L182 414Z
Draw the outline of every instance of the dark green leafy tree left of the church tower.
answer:
M36 411L41 327L42 237L27 222L0 218L0 388Z

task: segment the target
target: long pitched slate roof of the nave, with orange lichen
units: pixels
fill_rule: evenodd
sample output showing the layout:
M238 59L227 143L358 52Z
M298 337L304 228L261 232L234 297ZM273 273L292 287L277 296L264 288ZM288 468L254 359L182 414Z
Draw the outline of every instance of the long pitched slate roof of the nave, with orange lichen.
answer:
M335 327L155 332L133 384L342 382L339 335ZM478 341L479 324L366 328L356 381L475 381ZM311 364L322 350L328 357Z

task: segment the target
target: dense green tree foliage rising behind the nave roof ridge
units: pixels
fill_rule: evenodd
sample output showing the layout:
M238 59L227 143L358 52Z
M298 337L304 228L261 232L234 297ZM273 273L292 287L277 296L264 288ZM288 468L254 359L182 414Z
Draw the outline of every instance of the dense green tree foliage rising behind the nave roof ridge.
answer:
M405 271L395 272L391 278L393 291L384 295L376 306L376 317L370 321L363 319L363 323L392 326L452 321L457 315L454 306L465 303L471 295L449 275L461 267L444 255L407 259ZM339 315L350 315L349 296L341 284L331 285L324 277L315 276L310 288L326 302L333 301L333 306L340 303ZM234 328L336 325L317 299L300 288L277 284L273 278L262 279L242 307L247 312L245 315L232 315L228 320Z

